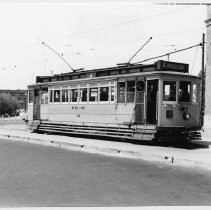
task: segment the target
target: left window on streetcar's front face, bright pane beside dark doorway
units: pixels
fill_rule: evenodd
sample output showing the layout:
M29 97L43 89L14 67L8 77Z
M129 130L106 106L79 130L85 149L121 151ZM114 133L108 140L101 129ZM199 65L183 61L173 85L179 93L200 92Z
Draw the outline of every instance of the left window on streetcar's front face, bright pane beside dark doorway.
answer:
M163 82L163 100L176 101L176 82L174 81Z

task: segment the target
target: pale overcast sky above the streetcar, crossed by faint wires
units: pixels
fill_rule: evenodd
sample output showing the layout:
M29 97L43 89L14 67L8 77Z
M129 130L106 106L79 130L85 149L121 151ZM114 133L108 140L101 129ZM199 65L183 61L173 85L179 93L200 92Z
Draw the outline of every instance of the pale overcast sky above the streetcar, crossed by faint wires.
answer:
M27 89L36 76L131 63L199 44L207 7L140 3L0 2L0 89ZM163 57L167 60L167 57ZM201 47L169 57L201 69ZM147 63L153 63L151 60Z

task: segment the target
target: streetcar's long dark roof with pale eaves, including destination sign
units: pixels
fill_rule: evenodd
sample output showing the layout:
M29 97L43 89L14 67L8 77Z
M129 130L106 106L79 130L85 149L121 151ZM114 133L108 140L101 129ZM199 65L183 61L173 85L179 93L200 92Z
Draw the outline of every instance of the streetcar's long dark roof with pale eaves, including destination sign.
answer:
M97 79L115 79L133 76L159 76L171 75L182 76L199 79L200 77L188 74L188 64L175 63L169 61L159 60L153 64L147 65L121 65L111 68L93 69L93 70L78 70L69 73L55 74L53 76L37 76L36 84L29 85L28 87L44 85L44 84L61 84L66 82L80 82L90 81Z

